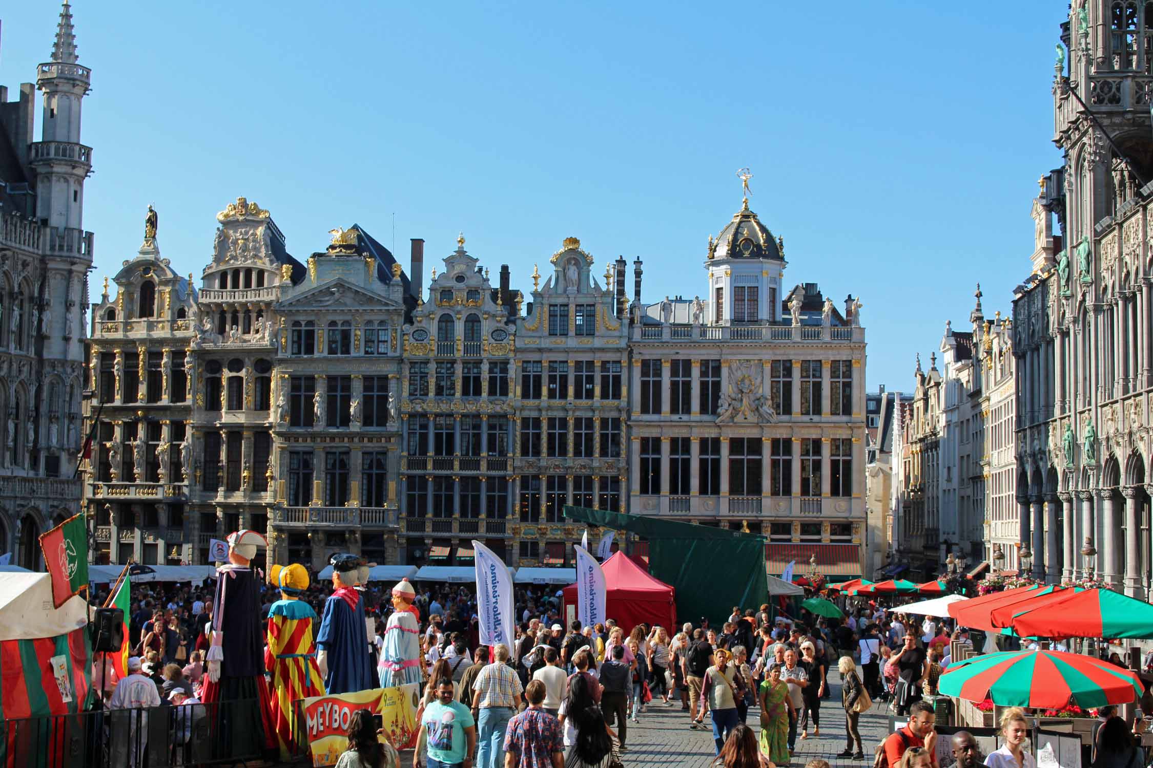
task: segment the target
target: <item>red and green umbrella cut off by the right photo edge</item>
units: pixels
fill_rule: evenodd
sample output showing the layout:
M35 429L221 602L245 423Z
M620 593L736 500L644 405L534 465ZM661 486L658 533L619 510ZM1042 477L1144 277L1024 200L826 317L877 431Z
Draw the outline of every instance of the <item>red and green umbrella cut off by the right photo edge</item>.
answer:
M1153 606L1102 587L1034 598L1015 610L995 610L992 618L1027 637L1153 638Z

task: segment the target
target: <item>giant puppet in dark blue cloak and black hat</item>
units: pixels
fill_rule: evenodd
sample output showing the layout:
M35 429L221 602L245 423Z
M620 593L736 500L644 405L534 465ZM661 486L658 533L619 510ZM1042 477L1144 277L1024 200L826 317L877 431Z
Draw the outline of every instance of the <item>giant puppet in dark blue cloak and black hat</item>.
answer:
M333 555L332 586L324 601L317 664L324 675L329 694L366 691L376 687L368 656L368 630L364 622L364 598L355 588L361 558L356 555Z

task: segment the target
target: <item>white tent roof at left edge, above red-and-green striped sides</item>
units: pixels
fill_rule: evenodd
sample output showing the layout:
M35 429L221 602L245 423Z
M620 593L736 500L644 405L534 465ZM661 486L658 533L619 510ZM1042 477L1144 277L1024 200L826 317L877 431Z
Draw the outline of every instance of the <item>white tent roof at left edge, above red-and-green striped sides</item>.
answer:
M52 607L47 573L0 573L0 640L35 640L66 634L88 624L84 598Z

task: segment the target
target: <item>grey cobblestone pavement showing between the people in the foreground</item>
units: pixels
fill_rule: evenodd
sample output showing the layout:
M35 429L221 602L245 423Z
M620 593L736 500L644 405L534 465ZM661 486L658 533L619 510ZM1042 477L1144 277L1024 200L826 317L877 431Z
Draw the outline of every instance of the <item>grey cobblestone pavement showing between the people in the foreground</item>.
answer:
M865 760L845 760L835 756L845 748L845 713L841 708L841 677L834 671L830 676L832 695L821 701L821 736L801 739L797 736L797 752L792 766L802 768L814 759L828 760L834 768L871 768L873 748L881 742L888 728L887 705L877 701L873 708L861 715L859 729L865 745ZM655 705L655 706L654 706ZM748 713L747 722L760 736L760 709ZM708 724L709 718L704 722ZM809 723L812 725L812 723ZM623 755L626 768L648 768L657 766L707 767L713 762L713 730L694 731L688 728L688 713L680 710L680 702L665 707L660 699L648 706L648 712L640 715L640 723L628 721L628 751Z

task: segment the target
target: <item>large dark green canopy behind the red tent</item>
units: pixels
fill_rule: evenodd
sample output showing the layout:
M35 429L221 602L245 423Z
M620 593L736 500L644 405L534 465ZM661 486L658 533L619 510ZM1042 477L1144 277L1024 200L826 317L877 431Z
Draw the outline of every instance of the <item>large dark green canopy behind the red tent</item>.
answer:
M564 514L647 540L649 572L676 588L680 622L704 617L721 626L733 606L756 609L769 600L762 535L587 507L566 505Z

